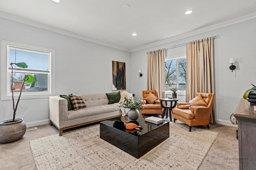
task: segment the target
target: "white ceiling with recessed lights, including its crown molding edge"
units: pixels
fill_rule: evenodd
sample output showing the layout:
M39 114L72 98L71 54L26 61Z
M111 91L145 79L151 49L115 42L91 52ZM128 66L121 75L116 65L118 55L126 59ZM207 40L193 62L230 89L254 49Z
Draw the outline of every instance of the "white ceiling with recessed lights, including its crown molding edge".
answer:
M123 8L125 4L130 9ZM194 12L185 15L187 10ZM57 4L52 0L0 0L0 17L136 51L256 18L256 1L62 0Z

